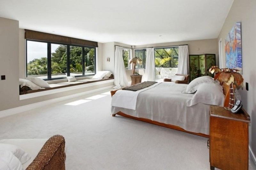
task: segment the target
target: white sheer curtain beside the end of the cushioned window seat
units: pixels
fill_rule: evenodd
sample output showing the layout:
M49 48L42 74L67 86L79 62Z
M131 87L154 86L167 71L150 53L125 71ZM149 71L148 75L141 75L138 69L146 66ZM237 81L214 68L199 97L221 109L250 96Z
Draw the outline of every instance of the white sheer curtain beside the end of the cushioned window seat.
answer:
M124 68L123 49L116 46L115 52L115 76L114 76L114 89L128 86L128 81Z

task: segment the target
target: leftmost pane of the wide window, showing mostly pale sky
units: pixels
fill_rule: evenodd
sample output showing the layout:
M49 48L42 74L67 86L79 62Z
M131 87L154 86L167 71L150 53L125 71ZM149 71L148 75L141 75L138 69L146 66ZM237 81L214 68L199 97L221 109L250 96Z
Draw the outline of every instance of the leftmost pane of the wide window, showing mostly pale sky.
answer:
M47 79L47 43L27 42L27 76Z

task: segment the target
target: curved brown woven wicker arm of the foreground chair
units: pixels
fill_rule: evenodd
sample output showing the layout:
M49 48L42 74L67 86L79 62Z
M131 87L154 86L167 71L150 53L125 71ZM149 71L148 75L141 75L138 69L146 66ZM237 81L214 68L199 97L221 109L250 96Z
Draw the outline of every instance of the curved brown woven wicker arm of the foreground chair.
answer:
M26 170L65 170L65 139L61 135L49 138Z

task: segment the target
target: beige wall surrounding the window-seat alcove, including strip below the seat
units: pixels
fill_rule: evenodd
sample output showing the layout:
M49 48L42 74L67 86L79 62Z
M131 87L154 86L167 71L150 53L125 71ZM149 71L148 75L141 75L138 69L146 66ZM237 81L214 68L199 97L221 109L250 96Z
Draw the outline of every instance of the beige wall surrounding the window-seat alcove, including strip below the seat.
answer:
M6 80L0 80L0 111L114 85L113 82L110 82L93 87L20 100L18 84L19 78L25 78L26 64L24 29L19 29L19 21L0 18L0 30L0 75L6 76ZM97 48L97 54L99 56L97 69L102 70L101 43Z

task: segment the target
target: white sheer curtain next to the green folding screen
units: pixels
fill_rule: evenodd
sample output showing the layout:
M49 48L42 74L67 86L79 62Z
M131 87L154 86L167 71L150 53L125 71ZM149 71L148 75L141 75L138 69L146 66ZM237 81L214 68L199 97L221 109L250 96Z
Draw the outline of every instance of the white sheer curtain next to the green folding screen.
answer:
M178 74L188 74L188 45L179 46Z

